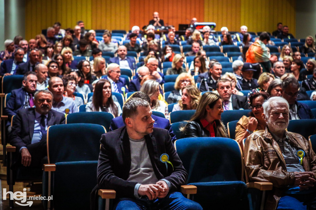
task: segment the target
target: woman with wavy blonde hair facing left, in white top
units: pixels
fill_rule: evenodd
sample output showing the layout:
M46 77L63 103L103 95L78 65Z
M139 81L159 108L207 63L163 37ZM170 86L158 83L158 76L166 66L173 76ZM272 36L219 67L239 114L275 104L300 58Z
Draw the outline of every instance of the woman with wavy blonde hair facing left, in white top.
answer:
M182 89L181 100L173 106L172 111L196 109L200 98L200 90L193 85L188 85Z

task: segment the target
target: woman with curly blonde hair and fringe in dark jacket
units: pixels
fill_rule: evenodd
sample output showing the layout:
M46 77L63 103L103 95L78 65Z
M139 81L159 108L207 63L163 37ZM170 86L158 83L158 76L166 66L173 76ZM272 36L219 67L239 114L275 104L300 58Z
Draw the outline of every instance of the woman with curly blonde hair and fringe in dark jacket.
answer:
M182 89L188 85L195 85L194 79L189 73L180 73L174 83L174 89L167 98L167 103L176 103L181 100Z

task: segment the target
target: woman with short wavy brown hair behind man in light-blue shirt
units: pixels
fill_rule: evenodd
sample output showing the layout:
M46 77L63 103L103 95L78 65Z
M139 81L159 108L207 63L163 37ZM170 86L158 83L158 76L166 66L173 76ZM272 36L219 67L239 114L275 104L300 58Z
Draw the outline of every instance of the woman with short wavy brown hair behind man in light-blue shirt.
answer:
M74 92L76 91L77 86L75 76L67 74L63 76L62 80L64 83L64 96L73 99L76 102L77 106L83 105L84 103L82 98L74 96Z

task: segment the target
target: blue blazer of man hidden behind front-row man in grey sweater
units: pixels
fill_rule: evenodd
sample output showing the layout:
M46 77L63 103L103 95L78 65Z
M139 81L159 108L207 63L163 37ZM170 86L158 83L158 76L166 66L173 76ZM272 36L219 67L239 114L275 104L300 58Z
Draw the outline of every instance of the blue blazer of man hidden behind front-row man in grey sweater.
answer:
M162 117L158 117L156 115L151 115L151 117L155 120L154 128L163 128L163 129L168 130L169 134L171 136L171 140L174 143L174 141L177 140L177 138L173 133L173 130L171 128L169 120L162 118ZM122 116L113 118L111 120L110 131L114 131L114 130L116 130L120 127L123 127L123 126L125 126L125 124L123 122Z

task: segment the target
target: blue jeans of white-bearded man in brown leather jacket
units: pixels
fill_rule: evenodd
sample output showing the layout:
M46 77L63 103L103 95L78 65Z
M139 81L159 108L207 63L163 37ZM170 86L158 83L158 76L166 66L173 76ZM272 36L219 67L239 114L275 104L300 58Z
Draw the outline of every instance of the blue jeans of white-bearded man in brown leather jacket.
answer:
M316 209L316 194L283 196L276 209L282 210L309 210Z

